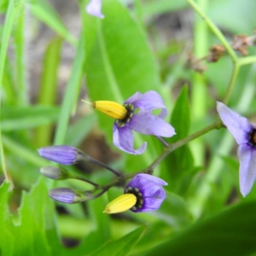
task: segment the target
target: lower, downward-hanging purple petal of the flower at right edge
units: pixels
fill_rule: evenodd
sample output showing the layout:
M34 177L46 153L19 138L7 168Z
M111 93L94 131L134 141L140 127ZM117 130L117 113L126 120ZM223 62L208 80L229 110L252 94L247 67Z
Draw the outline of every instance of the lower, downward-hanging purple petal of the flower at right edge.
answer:
M250 145L240 145L237 150L240 161L239 181L241 195L246 196L256 179L256 150Z

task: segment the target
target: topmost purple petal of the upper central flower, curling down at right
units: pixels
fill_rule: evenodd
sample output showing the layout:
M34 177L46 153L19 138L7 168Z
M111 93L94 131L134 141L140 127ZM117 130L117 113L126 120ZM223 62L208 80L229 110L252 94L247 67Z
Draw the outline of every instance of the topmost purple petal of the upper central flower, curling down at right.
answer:
M165 118L167 114L166 106L162 97L154 90L149 90L144 94L137 92L126 100L125 103L132 103L134 108L139 108L140 110L147 112L151 112L157 108L162 108L161 113L159 114L161 119Z

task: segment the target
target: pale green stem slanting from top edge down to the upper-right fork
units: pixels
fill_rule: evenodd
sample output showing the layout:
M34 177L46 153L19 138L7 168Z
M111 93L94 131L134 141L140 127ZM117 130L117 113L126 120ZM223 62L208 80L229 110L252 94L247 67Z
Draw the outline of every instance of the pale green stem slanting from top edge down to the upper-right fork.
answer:
M224 38L224 35L222 34L222 32L220 32L218 27L214 25L212 20L210 20L207 17L207 15L201 10L200 6L197 3L195 3L193 0L187 0L187 2L192 6L193 9L195 9L195 11L198 13L198 15L200 15L201 18L206 21L209 28L212 30L212 32L215 34L215 36L218 38L218 40L224 45L224 48L229 53L232 61L236 63L238 61L236 53L232 49L232 47L230 46L230 44L228 43L226 38Z

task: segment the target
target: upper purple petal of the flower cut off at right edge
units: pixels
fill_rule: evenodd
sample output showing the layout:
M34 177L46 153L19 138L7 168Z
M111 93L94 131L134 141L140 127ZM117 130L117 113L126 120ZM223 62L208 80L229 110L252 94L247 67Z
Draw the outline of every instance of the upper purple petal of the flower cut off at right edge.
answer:
M217 102L217 110L220 119L222 119L224 125L227 126L230 133L236 139L236 143L248 143L248 136L250 131L252 131L252 125L249 123L248 119L232 111L221 102Z

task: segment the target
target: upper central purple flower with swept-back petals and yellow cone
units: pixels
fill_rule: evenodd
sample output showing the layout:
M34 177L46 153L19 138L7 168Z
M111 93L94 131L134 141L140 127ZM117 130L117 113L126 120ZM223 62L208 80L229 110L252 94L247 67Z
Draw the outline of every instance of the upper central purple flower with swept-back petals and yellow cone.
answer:
M172 137L176 134L172 125L164 120L167 114L166 106L154 90L144 94L135 93L123 106L106 101L97 101L93 105L116 119L113 124L113 144L129 154L143 154L147 148L147 143L143 143L140 148L134 148L132 131L155 137ZM160 109L159 115L152 113L154 109Z

